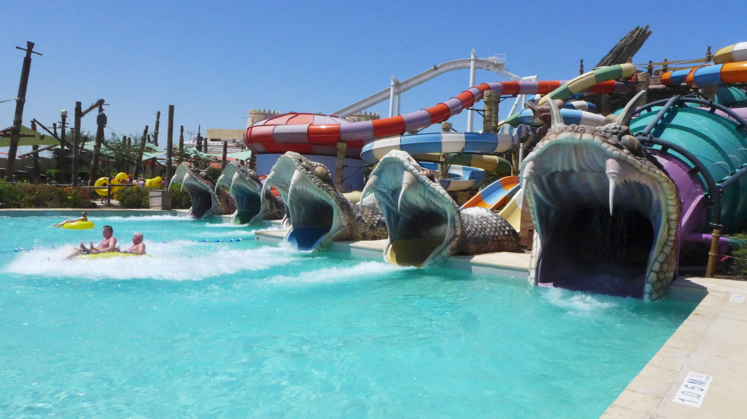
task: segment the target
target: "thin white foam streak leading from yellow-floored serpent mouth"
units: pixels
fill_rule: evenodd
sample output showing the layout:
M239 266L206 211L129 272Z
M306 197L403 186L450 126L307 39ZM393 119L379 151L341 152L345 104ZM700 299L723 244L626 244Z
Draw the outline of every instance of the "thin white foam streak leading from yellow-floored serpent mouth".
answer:
M360 279L376 279L387 273L408 269L413 268L400 267L385 262L365 261L352 267L329 267L311 272L304 272L298 276L273 276L272 278L267 279L266 282L275 284L330 284Z

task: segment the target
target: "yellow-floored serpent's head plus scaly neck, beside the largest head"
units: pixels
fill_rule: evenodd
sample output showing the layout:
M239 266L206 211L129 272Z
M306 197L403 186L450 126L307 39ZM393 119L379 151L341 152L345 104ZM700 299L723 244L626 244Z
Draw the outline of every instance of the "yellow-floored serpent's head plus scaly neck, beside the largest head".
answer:
M362 198L367 196L376 196L386 219L387 261L390 246L398 242L404 244L397 252L411 255L397 264L418 267L441 265L456 254L518 251L518 233L508 221L486 208L459 211L447 191L406 152L392 150L379 161L363 190ZM412 256L424 243L433 249Z

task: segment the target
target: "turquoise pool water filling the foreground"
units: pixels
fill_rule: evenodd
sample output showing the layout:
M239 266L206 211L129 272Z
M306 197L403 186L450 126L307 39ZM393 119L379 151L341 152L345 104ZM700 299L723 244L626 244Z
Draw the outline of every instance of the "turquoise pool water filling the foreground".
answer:
M598 418L695 307L56 220L0 218L0 250L37 246L0 253L2 418ZM154 257L52 249L104 224Z

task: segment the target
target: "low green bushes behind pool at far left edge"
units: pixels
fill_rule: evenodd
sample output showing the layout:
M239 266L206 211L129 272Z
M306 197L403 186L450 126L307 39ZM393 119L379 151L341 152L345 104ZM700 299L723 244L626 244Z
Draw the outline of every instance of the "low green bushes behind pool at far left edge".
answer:
M0 181L0 206L3 208L88 208L90 196L81 187L57 187L52 184Z

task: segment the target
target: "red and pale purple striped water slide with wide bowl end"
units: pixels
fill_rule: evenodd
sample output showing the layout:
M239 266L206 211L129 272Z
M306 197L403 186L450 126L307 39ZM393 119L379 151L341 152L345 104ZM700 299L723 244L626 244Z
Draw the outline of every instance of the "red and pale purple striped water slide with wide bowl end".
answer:
M436 106L410 114L372 121L350 122L335 115L330 115L328 118L334 118L333 123L313 123L303 120L293 122L288 120L289 114L284 114L260 121L247 128L244 143L247 144L247 148L257 154L290 151L306 155L337 155L337 143L342 142L347 144L346 155L348 158L360 158L360 152L364 144L370 143L376 138L418 131L448 120L453 115L459 114L465 108L469 108L475 102L483 99L483 93L486 90L492 90L500 96L546 95L562 87L565 83L566 81L560 80L483 83L470 87L468 90ZM631 90L630 86L629 82L603 81L589 87L583 93L629 92Z

